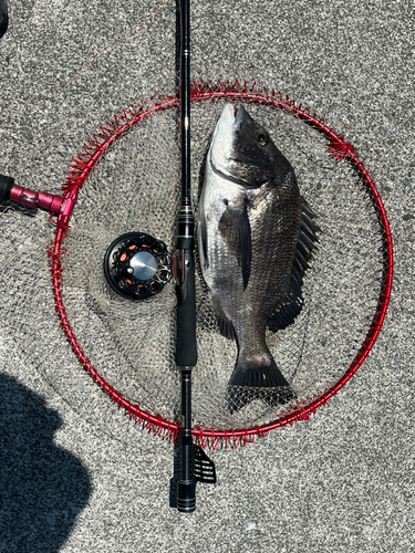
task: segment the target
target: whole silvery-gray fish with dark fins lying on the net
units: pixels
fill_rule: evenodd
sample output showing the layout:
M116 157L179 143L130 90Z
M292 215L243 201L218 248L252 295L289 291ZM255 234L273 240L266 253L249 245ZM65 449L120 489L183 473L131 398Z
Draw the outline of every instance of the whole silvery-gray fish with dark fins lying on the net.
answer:
M241 104L226 104L206 157L197 249L219 331L238 346L231 413L256 398L274 406L295 397L266 330L282 330L301 312L320 230L314 219L270 134Z

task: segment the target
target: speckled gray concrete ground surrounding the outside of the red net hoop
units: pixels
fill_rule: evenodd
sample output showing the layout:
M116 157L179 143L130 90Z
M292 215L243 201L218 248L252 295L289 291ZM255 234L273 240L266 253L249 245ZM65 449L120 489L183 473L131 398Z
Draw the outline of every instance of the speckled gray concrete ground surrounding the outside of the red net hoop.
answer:
M1 174L59 194L72 157L112 113L175 92L175 2L154 14L162 4L9 1ZM394 238L384 330L357 375L308 422L210 452L218 482L199 484L196 512L183 515L168 502L173 445L127 420L59 328L48 216L3 210L0 552L415 551L413 3L193 0L191 21L195 80L274 86L324 115L366 164Z

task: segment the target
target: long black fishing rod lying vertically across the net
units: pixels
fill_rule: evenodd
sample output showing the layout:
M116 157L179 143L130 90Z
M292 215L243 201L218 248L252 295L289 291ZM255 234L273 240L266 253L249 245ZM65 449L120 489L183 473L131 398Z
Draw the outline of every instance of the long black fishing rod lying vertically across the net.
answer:
M181 373L180 478L177 509L196 508L191 467L191 369L197 363L195 218L190 202L190 2L179 0L180 9L180 137L181 206L177 219L177 342L176 364Z

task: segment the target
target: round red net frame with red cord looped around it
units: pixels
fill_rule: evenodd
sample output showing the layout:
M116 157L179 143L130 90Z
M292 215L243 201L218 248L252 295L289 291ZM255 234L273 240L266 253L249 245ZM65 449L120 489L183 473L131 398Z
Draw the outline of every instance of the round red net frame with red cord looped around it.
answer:
M230 84L229 81L226 84L220 81L216 84L212 84L210 81L193 82L190 90L191 102L200 102L205 100L215 101L216 98L226 98L231 102L253 102L283 109L292 115L295 115L328 138L328 152L333 157L338 159L349 159L355 170L362 176L375 205L384 240L384 270L380 300L374 317L369 327L369 332L361 344L357 354L342 377L322 394L314 395L309 399L299 400L294 406L290 406L270 424L239 430L215 430L201 427L193 428L191 434L194 441L198 446L210 446L212 449L215 449L219 444L222 444L225 448L228 445L232 447L238 447L239 445L245 446L247 442L253 441L256 436L264 436L270 430L286 425L292 425L295 420L308 420L310 418L310 414L314 414L319 407L325 405L325 403L333 397L350 380L350 378L352 378L376 342L390 303L393 279L393 244L386 211L373 179L369 175L363 163L359 159L352 145L330 128L323 118L319 118L315 113L312 114L308 107L302 106L302 104L298 103L295 100L290 100L281 92L272 90L271 93L268 93L266 87L259 90L256 83L248 87L246 82L241 84L239 81L236 81L232 84ZM93 138L83 147L83 152L73 159L69 176L63 185L63 194L68 204L71 206L71 209L76 204L77 190L82 187L90 171L95 167L101 156L105 154L115 140L151 114L167 108L175 108L179 105L178 96L157 96L154 100L155 101L152 102L152 104L142 102L138 109L132 105L128 109L123 109L122 115L114 115L113 121L106 122L105 125L101 126L100 133L94 134ZM117 405L125 409L133 419L137 420L144 428L153 434L174 441L179 434L179 425L177 422L172 422L159 415L153 415L143 410L138 405L125 399L122 394L113 388L100 375L98 371L92 365L80 346L68 320L62 294L62 255L65 253L65 250L63 249L63 240L66 232L68 228L56 229L55 238L49 248L49 259L52 272L55 310L59 314L61 326L72 346L72 349L96 384L98 384Z

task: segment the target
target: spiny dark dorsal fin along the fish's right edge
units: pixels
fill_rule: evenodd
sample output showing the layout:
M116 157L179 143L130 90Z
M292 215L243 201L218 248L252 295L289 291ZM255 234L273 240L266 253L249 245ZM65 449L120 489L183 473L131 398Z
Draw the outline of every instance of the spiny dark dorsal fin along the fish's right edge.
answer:
M314 222L314 213L310 207L302 200L302 213L300 221L300 232L297 240L297 248L288 292L272 313L268 321L268 326L276 332L283 330L294 322L294 319L301 313L304 300L301 292L302 279L309 268L309 261L318 242L318 232L320 228Z

